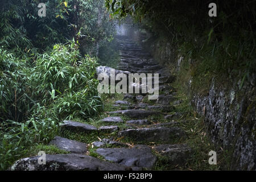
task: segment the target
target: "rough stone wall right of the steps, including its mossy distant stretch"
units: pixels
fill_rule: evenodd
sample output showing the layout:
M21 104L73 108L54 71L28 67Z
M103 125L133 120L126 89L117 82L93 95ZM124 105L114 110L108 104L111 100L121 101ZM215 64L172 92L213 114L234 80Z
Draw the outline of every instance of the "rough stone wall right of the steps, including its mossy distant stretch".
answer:
M150 40L152 39L152 40ZM182 56L167 38L148 38L144 46L151 49L155 59L162 64L174 65L180 71ZM148 46L150 45L150 46ZM192 80L187 80L187 90ZM233 83L233 84L232 84ZM232 154L230 169L256 169L255 74L250 82L239 89L241 78L219 83L212 80L207 94L191 94L191 105L204 115L210 139L216 146L229 149ZM220 148L218 147L218 148Z

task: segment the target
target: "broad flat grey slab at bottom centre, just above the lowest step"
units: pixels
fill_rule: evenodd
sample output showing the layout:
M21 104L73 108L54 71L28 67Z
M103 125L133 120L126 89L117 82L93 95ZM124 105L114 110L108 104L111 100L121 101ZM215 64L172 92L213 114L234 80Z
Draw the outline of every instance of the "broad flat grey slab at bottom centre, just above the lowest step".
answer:
M156 156L152 154L151 148L144 145L133 148L98 148L96 152L106 160L125 166L151 169L156 162Z

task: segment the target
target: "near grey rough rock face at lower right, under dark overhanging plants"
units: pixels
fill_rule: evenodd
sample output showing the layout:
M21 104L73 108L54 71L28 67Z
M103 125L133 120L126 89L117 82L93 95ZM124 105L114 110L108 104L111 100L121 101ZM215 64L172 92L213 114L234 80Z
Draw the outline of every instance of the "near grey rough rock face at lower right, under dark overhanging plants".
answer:
M255 139L255 91L247 85L239 89L237 81L233 86L216 86L214 80L208 96L193 93L192 105L201 115L208 128L210 139L222 148L234 148L234 160L230 168L234 170L256 169ZM239 95L244 93L242 95Z

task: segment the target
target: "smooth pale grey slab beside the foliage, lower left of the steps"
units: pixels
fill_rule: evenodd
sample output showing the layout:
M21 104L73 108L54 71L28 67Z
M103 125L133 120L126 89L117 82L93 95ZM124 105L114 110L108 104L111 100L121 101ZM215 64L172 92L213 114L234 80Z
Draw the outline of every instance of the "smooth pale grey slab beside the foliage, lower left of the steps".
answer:
M51 142L49 142L49 145L54 145L61 150L65 150L75 154L84 154L87 152L85 143L77 142L75 140L69 140L67 138L62 138L59 136L56 136L53 140L51 140Z

